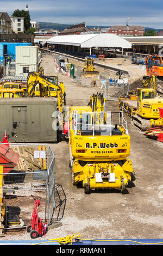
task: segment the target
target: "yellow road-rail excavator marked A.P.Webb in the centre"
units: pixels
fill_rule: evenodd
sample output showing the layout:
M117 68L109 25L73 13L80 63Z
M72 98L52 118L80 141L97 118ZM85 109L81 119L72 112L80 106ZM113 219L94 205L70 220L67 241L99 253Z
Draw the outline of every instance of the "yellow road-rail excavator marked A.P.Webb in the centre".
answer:
M91 96L88 106L70 106L68 147L72 184L81 184L86 194L109 188L125 193L133 173L132 162L127 158L127 123L123 124L120 112L120 119L111 124L105 101L102 94L96 94Z

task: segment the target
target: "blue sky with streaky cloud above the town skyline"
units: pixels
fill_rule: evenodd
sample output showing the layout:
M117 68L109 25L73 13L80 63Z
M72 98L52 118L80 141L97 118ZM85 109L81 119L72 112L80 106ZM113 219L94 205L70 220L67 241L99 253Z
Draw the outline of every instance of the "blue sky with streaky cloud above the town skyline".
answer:
M0 0L0 12L10 16L25 10L32 21L86 26L129 25L163 28L162 0Z

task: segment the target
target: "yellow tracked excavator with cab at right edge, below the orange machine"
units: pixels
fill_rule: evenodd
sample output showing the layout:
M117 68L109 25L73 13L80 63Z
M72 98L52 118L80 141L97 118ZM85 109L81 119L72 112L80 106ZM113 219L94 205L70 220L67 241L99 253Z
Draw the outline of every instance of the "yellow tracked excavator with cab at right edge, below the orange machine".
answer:
M156 96L156 77L144 76L142 88L137 88L135 97L120 97L119 109L131 117L131 123L145 131L150 128L150 119L159 118L159 107L163 106L163 98Z

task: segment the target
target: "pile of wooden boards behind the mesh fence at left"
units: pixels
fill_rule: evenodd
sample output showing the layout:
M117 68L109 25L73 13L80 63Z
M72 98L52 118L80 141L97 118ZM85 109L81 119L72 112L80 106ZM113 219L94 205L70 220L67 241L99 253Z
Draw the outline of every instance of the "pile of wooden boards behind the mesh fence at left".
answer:
M32 172L33 170L41 170L42 159L34 158L34 149L30 146L20 146L14 147L11 145L12 150L20 156L17 163L18 170L23 170L25 172Z

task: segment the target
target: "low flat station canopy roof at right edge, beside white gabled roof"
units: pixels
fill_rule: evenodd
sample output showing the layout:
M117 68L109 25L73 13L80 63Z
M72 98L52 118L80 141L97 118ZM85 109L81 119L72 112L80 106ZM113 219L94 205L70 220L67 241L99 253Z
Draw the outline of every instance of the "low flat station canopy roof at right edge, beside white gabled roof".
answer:
M145 45L159 45L163 44L163 36L124 36L123 39L126 39L131 44L145 44Z

